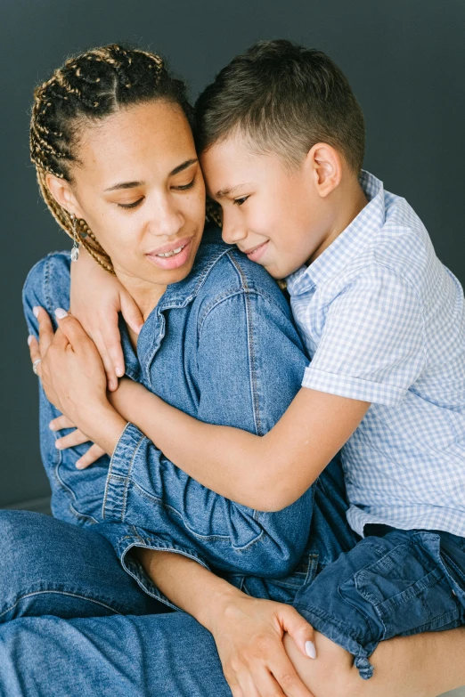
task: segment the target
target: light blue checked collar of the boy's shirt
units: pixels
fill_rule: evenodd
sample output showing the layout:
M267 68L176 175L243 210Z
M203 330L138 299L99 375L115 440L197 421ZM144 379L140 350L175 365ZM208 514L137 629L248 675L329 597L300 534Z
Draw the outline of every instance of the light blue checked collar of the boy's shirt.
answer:
M305 293L339 274L347 263L367 247L373 234L384 225L386 211L383 182L362 170L360 184L369 203L313 263L301 266L288 276L286 280L290 296Z

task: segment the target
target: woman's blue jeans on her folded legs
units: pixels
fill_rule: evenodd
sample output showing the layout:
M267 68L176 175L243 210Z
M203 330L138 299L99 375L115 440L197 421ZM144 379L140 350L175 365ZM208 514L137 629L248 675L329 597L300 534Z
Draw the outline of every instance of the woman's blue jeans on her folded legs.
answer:
M145 594L94 530L0 511L0 558L2 697L231 695L209 632Z

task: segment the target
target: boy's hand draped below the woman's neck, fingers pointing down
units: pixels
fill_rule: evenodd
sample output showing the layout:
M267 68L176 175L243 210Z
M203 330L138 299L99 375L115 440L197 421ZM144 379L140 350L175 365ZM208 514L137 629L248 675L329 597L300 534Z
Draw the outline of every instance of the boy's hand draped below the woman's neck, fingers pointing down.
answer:
M116 276L95 263L85 249L81 249L77 263L71 263L71 312L100 353L109 390L116 390L118 377L125 374L118 312L135 334L143 326L143 317Z

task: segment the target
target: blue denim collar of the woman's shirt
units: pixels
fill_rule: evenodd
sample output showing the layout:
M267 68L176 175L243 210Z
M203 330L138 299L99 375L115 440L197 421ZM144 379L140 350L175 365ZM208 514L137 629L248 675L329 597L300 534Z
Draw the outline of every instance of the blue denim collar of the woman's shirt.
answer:
M199 294L200 288L216 261L232 248L234 247L223 242L221 231L216 225L212 223L206 225L191 273L184 280L167 286L165 293L159 299L159 303L155 305L143 323L143 328L137 339L137 352L135 352L129 339L126 322L120 317L119 333L128 377L139 382L143 381L142 364L145 368L144 374L150 384L151 361L153 361L163 336L165 336L165 320L162 313L171 309L183 309L191 304Z

